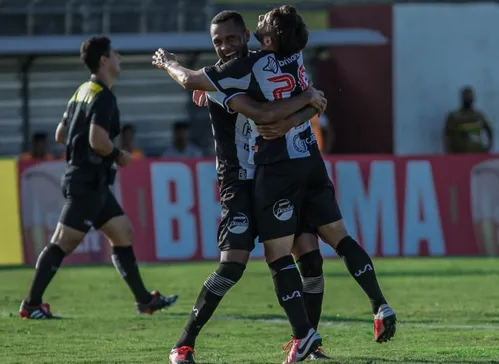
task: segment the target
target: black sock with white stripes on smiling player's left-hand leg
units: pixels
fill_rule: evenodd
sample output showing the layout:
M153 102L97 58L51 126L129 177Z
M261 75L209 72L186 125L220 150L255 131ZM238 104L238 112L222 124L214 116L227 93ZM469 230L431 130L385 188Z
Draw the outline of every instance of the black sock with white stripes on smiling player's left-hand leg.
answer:
M181 346L194 348L199 332L211 318L224 295L241 279L245 269L246 266L241 263L220 263L216 272L204 282L184 332L175 345L176 348Z

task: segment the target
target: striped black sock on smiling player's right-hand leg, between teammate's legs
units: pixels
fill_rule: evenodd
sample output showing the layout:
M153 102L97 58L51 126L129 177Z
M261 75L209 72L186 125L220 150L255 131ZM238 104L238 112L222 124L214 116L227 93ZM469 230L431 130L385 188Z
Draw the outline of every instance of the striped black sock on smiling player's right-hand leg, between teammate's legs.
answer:
M305 302L308 320L312 327L317 330L324 299L323 259L320 250L317 249L303 254L297 263L303 283L303 301Z

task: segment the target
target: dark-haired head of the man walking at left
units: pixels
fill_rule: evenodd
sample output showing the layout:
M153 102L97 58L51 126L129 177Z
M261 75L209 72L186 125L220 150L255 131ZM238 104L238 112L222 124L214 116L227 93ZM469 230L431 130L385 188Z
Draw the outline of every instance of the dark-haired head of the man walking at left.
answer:
M92 74L102 73L116 77L120 73L120 54L111 46L111 39L96 36L83 42L80 56Z

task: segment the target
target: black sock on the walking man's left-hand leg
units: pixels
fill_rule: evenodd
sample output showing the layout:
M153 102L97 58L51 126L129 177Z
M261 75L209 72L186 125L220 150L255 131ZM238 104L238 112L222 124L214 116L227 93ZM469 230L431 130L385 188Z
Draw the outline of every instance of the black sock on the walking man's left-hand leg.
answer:
M66 256L59 245L47 245L36 261L36 271L26 301L30 306L42 303L42 296Z

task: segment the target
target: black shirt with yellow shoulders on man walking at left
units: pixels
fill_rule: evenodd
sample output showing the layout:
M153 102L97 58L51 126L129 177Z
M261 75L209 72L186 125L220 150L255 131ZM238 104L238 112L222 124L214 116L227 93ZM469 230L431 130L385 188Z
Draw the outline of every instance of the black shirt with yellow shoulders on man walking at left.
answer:
M111 90L96 80L83 83L69 100L66 113L68 172L78 169L104 171L111 167L113 161L98 155L89 143L91 123L104 127L110 139L120 132L119 112Z

